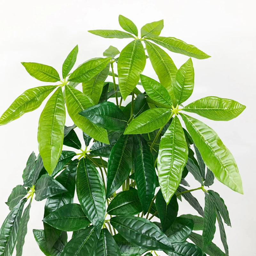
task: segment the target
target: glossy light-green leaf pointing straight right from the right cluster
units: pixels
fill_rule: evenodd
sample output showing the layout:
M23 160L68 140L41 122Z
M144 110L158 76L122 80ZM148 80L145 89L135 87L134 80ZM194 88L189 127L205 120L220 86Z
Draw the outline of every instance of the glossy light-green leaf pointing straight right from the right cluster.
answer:
M208 96L188 104L182 110L215 121L228 121L239 116L245 108L244 105L235 100Z

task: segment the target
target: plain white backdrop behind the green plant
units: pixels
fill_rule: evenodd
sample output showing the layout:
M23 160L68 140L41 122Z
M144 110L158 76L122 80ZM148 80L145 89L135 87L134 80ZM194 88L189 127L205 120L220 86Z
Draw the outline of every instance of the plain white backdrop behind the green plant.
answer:
M20 64L39 62L61 73L67 54L78 44L77 64L94 57L111 44L121 50L130 39L105 39L89 29L121 29L122 14L140 29L145 23L164 19L162 36L173 36L211 55L210 59L192 59L195 89L188 100L205 96L231 98L245 104L244 112L228 122L199 117L220 136L233 153L244 186L240 195L220 182L212 189L224 198L232 223L226 228L231 256L255 255L255 2L252 0L215 1L0 1L0 114L28 88L44 85L28 75ZM177 67L187 56L166 50ZM157 78L149 61L143 74ZM29 154L37 149L37 124L44 104L34 112L0 127L0 223L9 210L7 201L12 188L22 184L22 171ZM72 122L68 119L67 124ZM191 188L198 186L190 181ZM202 191L201 191L202 192ZM203 195L195 191L203 203ZM43 255L33 237L33 228L43 228L44 202L32 203L28 235L23 255ZM185 202L180 214L195 213ZM222 248L218 229L214 242ZM160 253L160 255L162 255Z

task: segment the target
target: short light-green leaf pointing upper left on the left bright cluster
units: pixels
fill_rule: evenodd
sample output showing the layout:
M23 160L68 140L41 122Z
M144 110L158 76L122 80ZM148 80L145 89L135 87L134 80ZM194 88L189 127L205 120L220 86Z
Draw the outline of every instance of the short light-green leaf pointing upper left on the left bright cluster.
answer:
M35 77L39 81L43 82L58 82L60 76L55 68L35 62L21 62L26 68L30 76Z

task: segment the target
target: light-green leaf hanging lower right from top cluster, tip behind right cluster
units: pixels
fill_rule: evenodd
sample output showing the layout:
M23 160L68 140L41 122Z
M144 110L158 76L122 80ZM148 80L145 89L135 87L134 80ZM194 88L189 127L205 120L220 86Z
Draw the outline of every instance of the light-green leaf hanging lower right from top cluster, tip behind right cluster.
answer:
M160 84L169 92L172 103L174 103L173 84L177 68L171 57L163 49L149 41L144 42L146 43L149 60L158 76Z

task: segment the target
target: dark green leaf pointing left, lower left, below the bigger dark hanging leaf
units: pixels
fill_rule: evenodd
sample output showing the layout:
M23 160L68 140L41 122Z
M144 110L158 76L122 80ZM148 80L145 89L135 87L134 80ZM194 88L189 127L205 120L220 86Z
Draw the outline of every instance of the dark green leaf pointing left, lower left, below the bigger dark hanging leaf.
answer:
M87 228L91 223L84 215L80 204L65 204L47 215L43 221L63 231Z

